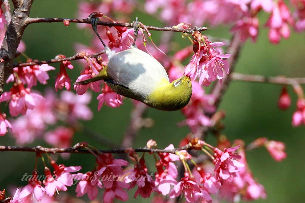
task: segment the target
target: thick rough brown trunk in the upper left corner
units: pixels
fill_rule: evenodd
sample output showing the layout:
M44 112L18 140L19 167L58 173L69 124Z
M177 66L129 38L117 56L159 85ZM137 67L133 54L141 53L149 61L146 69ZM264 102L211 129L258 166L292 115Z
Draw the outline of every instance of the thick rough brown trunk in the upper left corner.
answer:
M0 49L0 95L3 92L5 79L13 69L13 60L24 29L27 27L25 22L29 17L33 1L34 0L13 1L14 10L12 20L7 26Z

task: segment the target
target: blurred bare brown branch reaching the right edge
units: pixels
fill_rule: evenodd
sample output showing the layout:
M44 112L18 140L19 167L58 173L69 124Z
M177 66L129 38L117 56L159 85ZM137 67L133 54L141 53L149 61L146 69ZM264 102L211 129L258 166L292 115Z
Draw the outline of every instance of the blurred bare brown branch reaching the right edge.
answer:
M285 76L268 77L262 75L246 75L241 73L231 73L231 79L234 81L265 82L282 85L295 85L296 83L305 84L305 78L286 78Z

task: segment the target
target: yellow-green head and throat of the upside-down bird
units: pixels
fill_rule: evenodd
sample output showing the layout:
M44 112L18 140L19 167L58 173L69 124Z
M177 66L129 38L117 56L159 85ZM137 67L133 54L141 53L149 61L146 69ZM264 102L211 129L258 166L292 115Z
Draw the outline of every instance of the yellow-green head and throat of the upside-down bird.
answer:
M175 111L185 107L192 96L191 79L183 75L165 86L156 87L144 103L159 110Z

